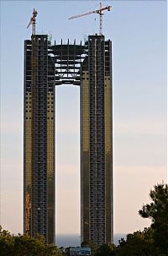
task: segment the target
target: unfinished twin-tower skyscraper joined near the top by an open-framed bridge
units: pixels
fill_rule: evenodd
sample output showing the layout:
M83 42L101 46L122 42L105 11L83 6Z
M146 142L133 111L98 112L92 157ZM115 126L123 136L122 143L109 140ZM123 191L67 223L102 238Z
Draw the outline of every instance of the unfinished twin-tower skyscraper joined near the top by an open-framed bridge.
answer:
M104 35L79 45L52 45L47 35L24 41L24 233L55 242L55 86L61 84L80 87L81 242L110 243L112 42Z

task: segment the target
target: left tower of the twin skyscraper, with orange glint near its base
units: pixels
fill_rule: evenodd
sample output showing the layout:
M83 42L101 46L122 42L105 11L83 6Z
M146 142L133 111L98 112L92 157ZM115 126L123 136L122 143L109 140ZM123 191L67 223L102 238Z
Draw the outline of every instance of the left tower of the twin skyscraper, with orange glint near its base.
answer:
M55 242L55 66L47 35L24 41L24 233Z

